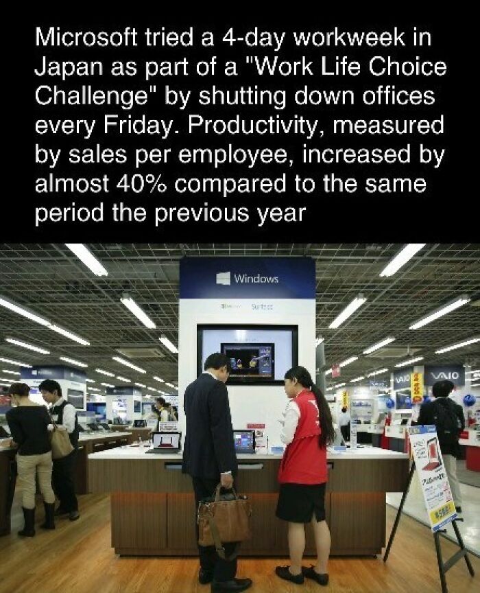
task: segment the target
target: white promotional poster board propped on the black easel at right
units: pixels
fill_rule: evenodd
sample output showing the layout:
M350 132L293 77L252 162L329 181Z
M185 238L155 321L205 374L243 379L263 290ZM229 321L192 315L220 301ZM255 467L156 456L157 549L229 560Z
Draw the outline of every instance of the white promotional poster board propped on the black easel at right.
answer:
M408 429L423 498L432 531L438 531L457 517L435 426Z

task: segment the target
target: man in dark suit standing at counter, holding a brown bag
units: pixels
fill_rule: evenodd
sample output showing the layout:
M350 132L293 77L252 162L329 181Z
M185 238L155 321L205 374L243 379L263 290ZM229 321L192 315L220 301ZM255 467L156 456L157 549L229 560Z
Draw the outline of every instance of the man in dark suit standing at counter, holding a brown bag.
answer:
M195 492L195 507L202 498L212 496L218 483L231 489L237 475L237 456L233 444L232 417L225 386L230 375L230 359L216 352L208 356L205 372L191 383L184 395L187 417L183 468L190 474ZM196 525L196 524L195 524ZM198 526L196 526L198 539ZM226 557L235 544L224 544ZM252 585L250 579L236 579L237 559L222 560L214 546L198 546L202 584L212 583L212 593L244 591Z

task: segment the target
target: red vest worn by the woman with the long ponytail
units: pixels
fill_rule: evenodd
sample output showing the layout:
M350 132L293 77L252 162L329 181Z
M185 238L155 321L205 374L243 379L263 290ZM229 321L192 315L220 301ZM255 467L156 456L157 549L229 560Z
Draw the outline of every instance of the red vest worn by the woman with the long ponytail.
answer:
M317 399L308 389L293 400L300 408L300 418L293 441L287 445L278 469L278 482L322 484L328 480L326 447L320 448L320 416Z

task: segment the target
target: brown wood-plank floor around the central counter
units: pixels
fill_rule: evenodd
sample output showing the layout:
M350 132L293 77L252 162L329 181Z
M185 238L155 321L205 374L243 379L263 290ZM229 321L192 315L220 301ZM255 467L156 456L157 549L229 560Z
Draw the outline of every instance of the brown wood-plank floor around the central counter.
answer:
M20 538L22 526L19 497L12 509L12 534L0 537L1 593L209 593L208 585L197 583L198 561L193 558L119 558L110 548L110 499L107 495L80 497L81 517L75 523L62 519L55 531L38 527L33 538ZM395 511L387 507L387 533ZM38 505L37 523L43 520ZM456 550L442 541L444 557ZM378 558L334 558L331 581L320 588L311 581L302 588L280 581L274 574L286 559L240 559L239 576L254 580L252 593L437 593L440 581L431 531L404 517L387 563ZM309 564L309 560L305 561ZM472 578L465 563L447 573L451 593L479 590L480 560L472 557L477 576Z

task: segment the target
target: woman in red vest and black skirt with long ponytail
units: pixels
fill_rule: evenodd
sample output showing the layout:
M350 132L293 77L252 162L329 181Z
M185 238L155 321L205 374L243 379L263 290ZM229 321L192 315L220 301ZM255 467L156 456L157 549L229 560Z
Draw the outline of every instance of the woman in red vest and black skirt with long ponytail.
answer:
M304 367L285 373L285 393L290 401L280 439L287 445L278 471L280 493L276 516L288 521L290 566L277 566L281 579L300 585L304 577L328 583L330 531L325 521L326 445L333 442L332 416L326 399ZM302 566L305 523L313 526L317 563Z

